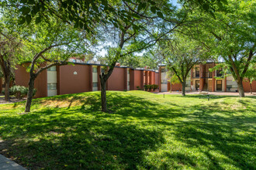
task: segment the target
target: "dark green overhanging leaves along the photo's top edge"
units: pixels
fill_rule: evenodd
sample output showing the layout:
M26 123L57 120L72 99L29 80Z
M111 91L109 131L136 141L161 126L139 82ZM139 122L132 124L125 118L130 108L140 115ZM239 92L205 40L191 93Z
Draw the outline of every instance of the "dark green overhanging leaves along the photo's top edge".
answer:
M99 22L111 22L117 28L122 26L122 22L130 22L132 16L138 13L130 10L123 10L123 8L116 8L120 3L132 3L137 5L138 9L150 8L157 15L162 16L162 13L157 10L156 2L153 0L146 0L141 2L140 0L87 0L86 2L78 0L1 0L0 6L11 6L19 8L20 16L19 23L30 23L32 19L36 18L36 23L47 20L48 16L54 16L54 18L61 19L63 22L73 25L75 28L84 29L87 32L94 32L95 25ZM161 3L165 1L159 1ZM221 7L227 3L227 0L181 0L182 5L191 7L197 6L204 12L209 12L214 15L213 12L216 6ZM170 8L165 8L167 11ZM172 10L169 10L171 12ZM119 16L119 20L113 19L113 16ZM132 24L132 22L130 22Z

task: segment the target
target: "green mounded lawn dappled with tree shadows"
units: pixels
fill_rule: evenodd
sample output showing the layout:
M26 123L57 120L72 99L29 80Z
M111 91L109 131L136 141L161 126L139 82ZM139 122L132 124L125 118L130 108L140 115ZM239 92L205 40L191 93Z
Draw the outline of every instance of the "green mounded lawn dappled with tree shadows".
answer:
M256 168L255 97L107 98L109 114L99 92L0 105L0 152L33 169Z

